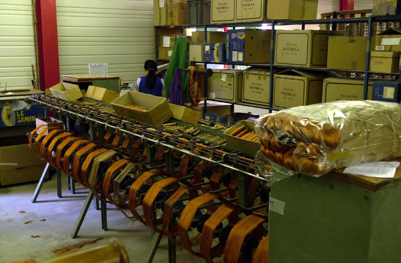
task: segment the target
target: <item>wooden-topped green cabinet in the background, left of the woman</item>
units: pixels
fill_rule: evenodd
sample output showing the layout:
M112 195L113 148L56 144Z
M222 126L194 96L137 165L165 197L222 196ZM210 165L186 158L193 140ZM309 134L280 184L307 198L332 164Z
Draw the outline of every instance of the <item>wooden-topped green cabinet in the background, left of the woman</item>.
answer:
M87 90L89 85L110 89L120 93L120 78L108 75L62 75L63 82L76 84L80 89Z

